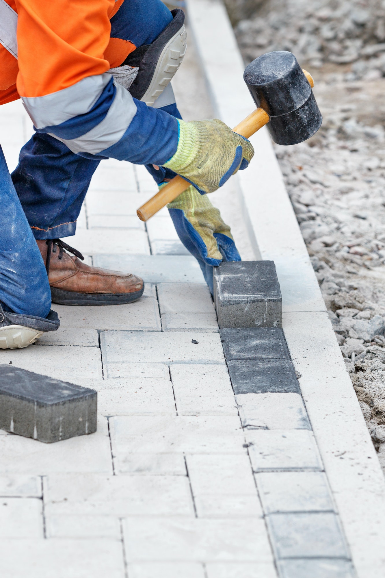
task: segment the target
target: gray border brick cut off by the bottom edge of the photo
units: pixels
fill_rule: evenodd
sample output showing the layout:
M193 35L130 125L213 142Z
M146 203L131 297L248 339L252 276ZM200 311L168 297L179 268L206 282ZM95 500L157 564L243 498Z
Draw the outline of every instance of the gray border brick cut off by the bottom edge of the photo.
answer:
M280 578L355 578L349 560L312 558L311 560L280 560L277 563Z

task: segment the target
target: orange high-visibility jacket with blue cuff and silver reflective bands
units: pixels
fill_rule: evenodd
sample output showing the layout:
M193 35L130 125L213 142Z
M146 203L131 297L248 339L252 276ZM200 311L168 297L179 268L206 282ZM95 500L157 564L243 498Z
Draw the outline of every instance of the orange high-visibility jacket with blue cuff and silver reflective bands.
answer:
M20 96L35 130L74 153L162 165L176 151L176 119L107 73L117 65L106 58L109 19L122 3L0 0L0 104Z

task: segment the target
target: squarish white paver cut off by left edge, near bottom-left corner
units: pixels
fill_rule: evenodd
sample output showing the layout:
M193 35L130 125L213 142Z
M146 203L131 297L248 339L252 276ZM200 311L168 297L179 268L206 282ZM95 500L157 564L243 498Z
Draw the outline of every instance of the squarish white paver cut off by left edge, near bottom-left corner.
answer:
M1 498L0 538L43 538L42 507L38 498Z

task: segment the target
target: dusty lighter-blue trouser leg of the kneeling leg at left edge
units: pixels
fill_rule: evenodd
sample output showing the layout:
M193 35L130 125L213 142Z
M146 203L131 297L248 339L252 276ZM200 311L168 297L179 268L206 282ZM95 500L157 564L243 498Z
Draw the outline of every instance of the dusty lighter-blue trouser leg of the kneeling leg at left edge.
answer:
M51 291L42 255L0 147L0 301L14 313L47 317Z

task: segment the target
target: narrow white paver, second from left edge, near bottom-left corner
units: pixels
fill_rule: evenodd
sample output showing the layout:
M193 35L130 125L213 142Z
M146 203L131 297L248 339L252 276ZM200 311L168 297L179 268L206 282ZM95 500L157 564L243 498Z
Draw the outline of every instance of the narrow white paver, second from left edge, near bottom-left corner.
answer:
M47 538L109 538L121 539L118 517L95 514L52 514L46 516Z

